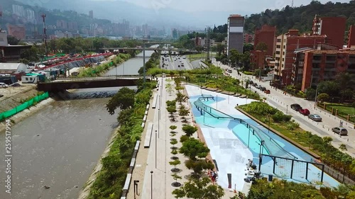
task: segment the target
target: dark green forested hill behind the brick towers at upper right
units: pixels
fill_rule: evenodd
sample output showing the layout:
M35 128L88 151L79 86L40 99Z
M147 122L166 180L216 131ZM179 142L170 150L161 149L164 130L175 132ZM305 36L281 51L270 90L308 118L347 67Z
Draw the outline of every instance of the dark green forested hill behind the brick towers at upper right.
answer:
M355 25L355 1L349 3L333 3L329 1L321 4L320 1L312 1L307 6L292 8L286 6L282 10L269 10L246 17L246 33L254 33L256 28L264 24L275 25L276 35L288 32L289 29L298 29L301 33L312 30L312 21L315 15L320 16L344 16L346 17L346 31L350 25Z

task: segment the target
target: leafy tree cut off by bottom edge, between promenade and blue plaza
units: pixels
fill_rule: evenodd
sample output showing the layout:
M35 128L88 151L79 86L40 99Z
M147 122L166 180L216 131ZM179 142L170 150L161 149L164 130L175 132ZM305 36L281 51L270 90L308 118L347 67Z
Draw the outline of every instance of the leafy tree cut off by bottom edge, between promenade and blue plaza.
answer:
M190 179L181 188L175 189L173 195L175 198L194 198L194 199L219 199L224 196L224 190L221 186L212 185L209 178L201 180Z

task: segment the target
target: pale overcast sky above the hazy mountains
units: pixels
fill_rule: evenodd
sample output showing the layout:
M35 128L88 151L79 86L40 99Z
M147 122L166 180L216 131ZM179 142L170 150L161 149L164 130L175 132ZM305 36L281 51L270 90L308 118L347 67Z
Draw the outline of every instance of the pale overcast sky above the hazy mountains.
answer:
M138 6L146 6L155 10L175 8L181 11L225 11L229 13L251 14L265 11L267 8L283 8L292 4L292 0L121 0ZM320 0L323 4L329 0ZM294 6L310 4L311 0L294 0ZM333 2L349 2L338 0Z

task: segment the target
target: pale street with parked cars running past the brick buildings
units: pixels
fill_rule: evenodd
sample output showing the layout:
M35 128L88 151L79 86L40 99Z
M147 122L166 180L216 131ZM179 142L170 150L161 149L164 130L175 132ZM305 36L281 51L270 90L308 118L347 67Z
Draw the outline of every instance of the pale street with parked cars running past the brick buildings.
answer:
M221 67L222 69L229 68L228 66L221 64L219 62L218 63L215 62L214 64ZM271 106L278 108L279 110L283 111L283 113L292 115L293 119L297 123L300 123L300 127L303 130L310 131L313 134L319 135L320 137L326 137L326 136L332 137L333 138L332 144L334 147L339 147L340 144L346 144L346 148L347 148L346 153L349 154L351 157L355 158L355 130L354 130L354 126L351 123L347 123L346 121L338 117L335 117L334 115L331 115L325 112L324 110L315 108L314 101L307 101L302 98L296 98L294 96L290 96L289 94L284 95L282 90L280 89L275 90L271 88L268 81L266 82L258 81L258 79L253 78L253 76L244 75L244 74L239 76L236 70L233 69L232 69L231 76L243 80L243 82L245 82L246 79L251 79L256 84L266 87L266 89L269 89L271 91L271 94L263 93L261 90L256 89L253 86L251 86L251 91L256 91L261 95L261 97L266 97L266 102ZM291 109L290 105L293 103L298 103L303 108L309 109L311 114L320 115L322 117L322 122L317 123L313 120L308 119L307 116L301 115L300 113ZM348 136L341 137L337 134L334 134L334 132L332 132L332 127L338 127L340 121L343 121L344 127L346 127L346 129L348 130L349 132Z

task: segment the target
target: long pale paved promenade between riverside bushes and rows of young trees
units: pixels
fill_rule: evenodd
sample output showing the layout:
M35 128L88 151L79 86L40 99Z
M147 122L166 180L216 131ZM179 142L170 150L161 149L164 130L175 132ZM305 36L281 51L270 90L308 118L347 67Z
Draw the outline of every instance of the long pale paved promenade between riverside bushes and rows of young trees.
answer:
M180 136L183 135L182 132L182 121L178 113L175 113L175 122L170 121L169 113L166 110L165 101L172 101L176 97L176 91L173 93L168 93L166 91L166 85L171 84L173 88L175 88L175 82L170 81L169 78L160 78L160 86L158 91L154 91L154 93L158 93L158 101L155 109L150 108L147 118L147 123L153 121L153 134L151 137L151 147L148 149L143 148L143 143L138 151L137 155L137 163L133 170L132 182L129 190L129 195L127 198L133 199L133 180L138 180L138 193L136 198L156 198L156 199L173 199L174 196L172 191L175 189L171 184L174 182L171 174L173 172L170 169L173 169L174 166L169 164L170 157L173 157L171 154L170 147L173 147L170 144L170 139L175 138L178 141L180 140ZM161 84L163 82L163 84ZM160 106L159 106L160 103ZM187 108L190 108L190 105L187 102L183 103ZM178 108L179 106L177 106ZM187 121L192 125L192 113L187 116ZM178 132L175 137L170 135L170 125L176 125L178 128L175 132ZM156 132L155 132L156 131ZM146 136L146 128L143 132L142 139L144 140ZM197 138L197 135L195 135ZM155 145L156 144L156 145ZM155 147L156 146L156 147ZM181 147L181 143L175 144L175 147ZM187 181L187 175L189 175L192 170L189 170L185 167L185 157L182 154L176 154L175 156L179 157L181 164L176 166L178 169L182 169L178 173L179 176L182 177L181 180L178 180L180 183L184 183ZM153 171L153 174L151 174ZM153 182L153 183L152 183ZM234 195L234 193L225 191L226 195L224 198L230 198ZM153 195L152 195L153 194Z

